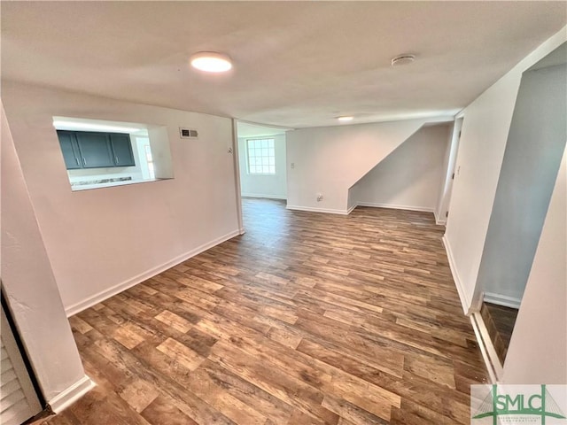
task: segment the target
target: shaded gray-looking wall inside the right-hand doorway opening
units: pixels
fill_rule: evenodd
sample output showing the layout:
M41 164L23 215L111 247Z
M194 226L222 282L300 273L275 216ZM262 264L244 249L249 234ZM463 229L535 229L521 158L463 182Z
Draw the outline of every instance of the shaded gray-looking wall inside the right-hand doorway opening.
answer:
M524 73L510 125L477 285L519 306L567 140L567 65Z

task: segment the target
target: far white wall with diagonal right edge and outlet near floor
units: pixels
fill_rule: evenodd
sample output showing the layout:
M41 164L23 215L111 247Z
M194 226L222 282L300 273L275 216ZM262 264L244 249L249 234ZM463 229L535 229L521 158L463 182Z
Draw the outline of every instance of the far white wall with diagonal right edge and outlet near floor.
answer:
M288 208L346 213L349 188L425 122L405 120L288 131ZM317 202L317 194L322 194L321 202Z

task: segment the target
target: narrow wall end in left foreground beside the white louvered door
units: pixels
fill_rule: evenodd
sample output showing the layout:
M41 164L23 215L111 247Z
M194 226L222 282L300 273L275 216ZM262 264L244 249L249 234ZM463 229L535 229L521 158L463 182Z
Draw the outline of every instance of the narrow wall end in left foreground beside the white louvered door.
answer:
M2 107L2 265L12 318L49 403L84 378Z

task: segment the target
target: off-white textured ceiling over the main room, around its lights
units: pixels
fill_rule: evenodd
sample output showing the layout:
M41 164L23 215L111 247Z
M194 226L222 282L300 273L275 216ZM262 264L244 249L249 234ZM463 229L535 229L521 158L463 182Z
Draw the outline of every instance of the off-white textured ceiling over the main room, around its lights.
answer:
M2 77L287 128L454 114L564 2L1 2ZM190 54L234 59L227 74ZM400 53L416 62L392 68Z

